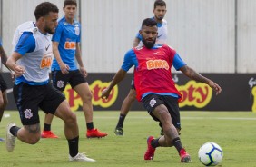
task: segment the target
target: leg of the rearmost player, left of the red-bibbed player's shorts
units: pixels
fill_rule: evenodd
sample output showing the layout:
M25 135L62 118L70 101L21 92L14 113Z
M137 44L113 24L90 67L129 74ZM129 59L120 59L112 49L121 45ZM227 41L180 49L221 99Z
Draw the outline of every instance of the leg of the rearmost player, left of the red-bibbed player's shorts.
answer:
M119 119L114 130L114 133L116 135L121 135L121 136L123 135L123 123L124 123L125 117L129 113L132 107L132 104L135 100L136 100L136 90L134 87L134 80L132 80L131 89L128 95L123 100Z

